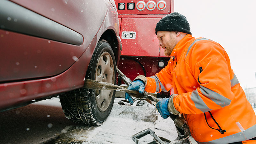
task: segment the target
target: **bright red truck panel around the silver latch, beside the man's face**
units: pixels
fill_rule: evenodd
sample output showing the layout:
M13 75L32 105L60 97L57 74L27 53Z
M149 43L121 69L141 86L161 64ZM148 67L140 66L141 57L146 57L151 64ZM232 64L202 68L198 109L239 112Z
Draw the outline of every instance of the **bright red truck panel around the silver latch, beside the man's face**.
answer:
M160 18L122 18L120 37L123 44L121 55L158 56L158 39L152 27ZM122 32L136 32L135 40L122 39Z

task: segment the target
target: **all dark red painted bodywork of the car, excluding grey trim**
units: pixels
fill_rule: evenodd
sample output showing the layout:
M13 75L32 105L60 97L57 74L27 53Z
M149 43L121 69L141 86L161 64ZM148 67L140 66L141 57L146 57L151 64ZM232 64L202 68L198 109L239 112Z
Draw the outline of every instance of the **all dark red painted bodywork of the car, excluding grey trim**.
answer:
M109 1L12 1L80 33L84 42L75 46L0 30L0 109L83 87L103 32L119 35L117 12ZM119 45L116 61L120 53Z

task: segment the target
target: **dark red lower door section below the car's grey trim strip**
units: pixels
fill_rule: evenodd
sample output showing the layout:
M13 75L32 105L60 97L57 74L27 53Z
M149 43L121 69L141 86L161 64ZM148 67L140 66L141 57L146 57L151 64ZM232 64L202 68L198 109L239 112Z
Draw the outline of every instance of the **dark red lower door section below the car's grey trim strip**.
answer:
M53 76L68 69L84 52L65 44L0 30L0 82Z

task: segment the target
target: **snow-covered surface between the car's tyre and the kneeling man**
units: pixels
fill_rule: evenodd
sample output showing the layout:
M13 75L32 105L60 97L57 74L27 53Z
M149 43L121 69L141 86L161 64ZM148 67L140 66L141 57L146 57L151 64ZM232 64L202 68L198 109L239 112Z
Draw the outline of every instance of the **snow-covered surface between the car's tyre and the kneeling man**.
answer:
M116 98L115 104L108 119L102 126L95 128L92 133L88 133L85 143L111 143L111 144L132 144L132 135L150 128L158 136L174 140L177 137L172 119L156 118L156 108L147 103L143 106L118 105L116 102L122 98ZM147 135L140 139L141 143L151 142L153 138Z

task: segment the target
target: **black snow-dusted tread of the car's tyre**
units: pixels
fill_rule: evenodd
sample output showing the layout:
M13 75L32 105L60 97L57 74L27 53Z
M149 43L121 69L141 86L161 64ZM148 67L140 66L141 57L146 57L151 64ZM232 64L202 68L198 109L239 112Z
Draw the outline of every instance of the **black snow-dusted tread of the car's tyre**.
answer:
M106 40L99 40L97 49L103 44L108 43ZM91 79L91 71L92 71L92 64L93 59L96 57L96 53L94 52L92 55L92 59L89 63L87 68L87 72L85 77ZM113 59L115 61L115 58ZM92 104L91 104L91 96L94 95L94 90L89 90L85 88L80 88L77 90L71 90L60 94L60 103L63 109L63 112L66 115L66 118L70 119L72 122L75 123L82 123L82 124L89 124L99 126L104 121L100 121L94 118L94 114L92 112ZM113 92L113 97L115 92ZM112 105L111 105L112 107ZM111 110L111 109L110 109ZM110 111L109 111L110 113ZM108 114L109 114L108 113Z

